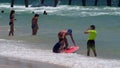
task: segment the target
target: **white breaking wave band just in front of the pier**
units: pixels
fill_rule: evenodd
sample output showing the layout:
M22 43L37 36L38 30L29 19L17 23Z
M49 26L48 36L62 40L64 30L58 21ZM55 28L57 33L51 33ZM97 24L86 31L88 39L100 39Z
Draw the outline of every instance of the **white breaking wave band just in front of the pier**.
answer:
M10 8L9 4L0 4L0 8L14 9L17 12L27 13L39 13L47 11L48 15L59 15L59 16L71 16L71 17L88 17L88 16L100 16L100 15L118 15L120 16L120 8L118 7L93 7L93 6L68 6L60 5L57 7L41 6L41 7L30 7L25 8L23 5L15 5L14 8Z

